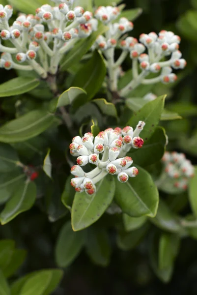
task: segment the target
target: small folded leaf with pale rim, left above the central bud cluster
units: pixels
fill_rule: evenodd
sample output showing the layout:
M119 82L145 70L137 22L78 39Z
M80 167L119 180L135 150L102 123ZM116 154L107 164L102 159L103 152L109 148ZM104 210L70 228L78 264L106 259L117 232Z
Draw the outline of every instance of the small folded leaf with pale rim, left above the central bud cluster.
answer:
M59 96L56 108L70 105L75 99L84 99L84 96L86 96L84 89L71 87Z

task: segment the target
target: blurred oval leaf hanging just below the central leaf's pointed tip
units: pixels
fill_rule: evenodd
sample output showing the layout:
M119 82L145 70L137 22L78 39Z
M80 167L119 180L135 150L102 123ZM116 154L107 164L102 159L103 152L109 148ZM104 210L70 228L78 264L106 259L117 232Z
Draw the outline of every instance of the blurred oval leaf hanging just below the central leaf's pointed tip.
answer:
M62 227L56 243L56 264L67 267L72 264L84 246L84 232L73 232L70 221Z

